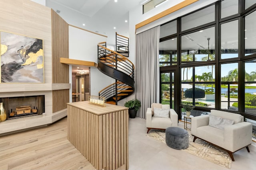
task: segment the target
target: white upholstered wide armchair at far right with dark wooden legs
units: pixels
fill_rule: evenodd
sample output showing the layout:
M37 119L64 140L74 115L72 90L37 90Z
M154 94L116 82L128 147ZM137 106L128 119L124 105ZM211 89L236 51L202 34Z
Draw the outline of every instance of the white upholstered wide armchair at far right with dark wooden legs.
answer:
M209 117L211 119L210 125ZM218 129L218 127L212 127L212 121L218 122L218 120L231 120L232 122L234 121L234 124L222 126L223 130ZM252 124L244 122L244 117L240 114L211 110L210 115L192 117L191 134L194 136L193 142L199 138L220 147L226 150L232 161L234 161L234 152L244 147L250 152L248 145L252 143Z

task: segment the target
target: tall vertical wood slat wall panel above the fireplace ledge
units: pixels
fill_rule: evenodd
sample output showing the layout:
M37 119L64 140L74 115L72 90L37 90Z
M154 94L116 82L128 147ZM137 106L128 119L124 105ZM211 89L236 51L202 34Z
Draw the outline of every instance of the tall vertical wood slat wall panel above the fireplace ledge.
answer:
M69 83L69 66L60 63L68 55L68 23L52 10L52 83Z

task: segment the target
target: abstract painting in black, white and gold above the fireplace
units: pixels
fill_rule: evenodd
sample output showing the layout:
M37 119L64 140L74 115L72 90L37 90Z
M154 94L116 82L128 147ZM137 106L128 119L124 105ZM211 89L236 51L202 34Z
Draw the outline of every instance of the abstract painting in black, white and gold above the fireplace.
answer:
M43 40L0 31L1 83L44 83Z

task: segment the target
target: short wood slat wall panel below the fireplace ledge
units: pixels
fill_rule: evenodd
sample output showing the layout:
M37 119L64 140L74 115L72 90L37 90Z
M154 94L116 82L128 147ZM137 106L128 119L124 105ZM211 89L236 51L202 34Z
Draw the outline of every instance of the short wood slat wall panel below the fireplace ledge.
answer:
M52 91L52 113L67 108L69 102L69 89Z

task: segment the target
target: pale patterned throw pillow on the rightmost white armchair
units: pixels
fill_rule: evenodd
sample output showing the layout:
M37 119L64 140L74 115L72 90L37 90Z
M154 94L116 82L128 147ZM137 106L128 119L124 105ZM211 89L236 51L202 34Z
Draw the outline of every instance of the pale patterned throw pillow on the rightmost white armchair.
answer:
M234 120L225 119L222 117L209 115L209 126L216 127L218 129L224 130L224 127L233 125Z

